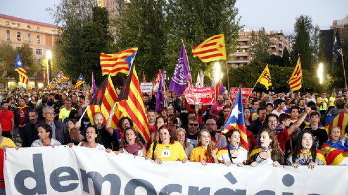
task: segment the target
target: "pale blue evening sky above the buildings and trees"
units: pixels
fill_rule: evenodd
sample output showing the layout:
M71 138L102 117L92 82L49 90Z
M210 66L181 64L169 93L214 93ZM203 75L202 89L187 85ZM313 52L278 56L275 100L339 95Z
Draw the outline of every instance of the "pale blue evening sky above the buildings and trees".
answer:
M60 0L0 0L0 13L38 22L54 24L45 9ZM332 20L348 15L348 0L237 0L240 24L245 28L293 33L295 18L300 15L312 17L313 24L329 29Z

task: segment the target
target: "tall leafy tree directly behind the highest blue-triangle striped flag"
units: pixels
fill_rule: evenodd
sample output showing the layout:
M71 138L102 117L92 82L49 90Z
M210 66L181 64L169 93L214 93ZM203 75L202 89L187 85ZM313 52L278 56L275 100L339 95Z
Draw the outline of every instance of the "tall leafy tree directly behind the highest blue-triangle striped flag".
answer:
M148 79L155 77L157 71L168 63L165 58L165 4L165 0L132 0L132 3L119 8L120 14L111 24L117 39L112 52L139 47L134 65L138 75L144 71Z

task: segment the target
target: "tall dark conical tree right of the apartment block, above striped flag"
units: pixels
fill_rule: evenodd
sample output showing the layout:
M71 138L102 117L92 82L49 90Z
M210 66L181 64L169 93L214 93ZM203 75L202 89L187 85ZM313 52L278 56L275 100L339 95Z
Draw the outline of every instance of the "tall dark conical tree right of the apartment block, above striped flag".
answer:
M312 18L300 15L294 24L294 35L291 36L294 45L291 52L291 64L296 65L300 54L301 65L308 71L316 67L319 52L319 27L312 24Z

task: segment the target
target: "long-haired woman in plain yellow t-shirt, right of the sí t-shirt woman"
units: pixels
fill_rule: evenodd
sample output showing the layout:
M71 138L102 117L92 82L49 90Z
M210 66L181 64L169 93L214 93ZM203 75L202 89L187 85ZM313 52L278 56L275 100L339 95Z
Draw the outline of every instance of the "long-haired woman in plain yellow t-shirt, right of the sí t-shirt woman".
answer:
M211 140L208 130L203 129L198 133L197 147L192 149L190 154L191 162L200 162L203 165L219 163L216 157L217 149Z

